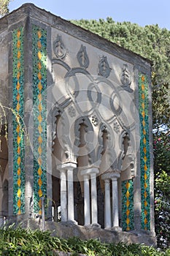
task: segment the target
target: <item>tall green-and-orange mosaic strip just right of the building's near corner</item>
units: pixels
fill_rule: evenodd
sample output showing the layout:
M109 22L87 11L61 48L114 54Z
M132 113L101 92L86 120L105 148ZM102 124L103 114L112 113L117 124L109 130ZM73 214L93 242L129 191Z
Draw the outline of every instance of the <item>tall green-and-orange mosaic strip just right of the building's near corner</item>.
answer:
M34 212L42 214L47 195L47 31L33 26Z

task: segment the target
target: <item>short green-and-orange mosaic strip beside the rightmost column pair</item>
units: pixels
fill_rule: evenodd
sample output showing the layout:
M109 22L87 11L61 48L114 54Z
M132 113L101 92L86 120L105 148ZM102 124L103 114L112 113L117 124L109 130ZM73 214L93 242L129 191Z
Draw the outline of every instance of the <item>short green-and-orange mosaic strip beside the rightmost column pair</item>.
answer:
M122 182L122 228L134 230L134 183L133 180Z

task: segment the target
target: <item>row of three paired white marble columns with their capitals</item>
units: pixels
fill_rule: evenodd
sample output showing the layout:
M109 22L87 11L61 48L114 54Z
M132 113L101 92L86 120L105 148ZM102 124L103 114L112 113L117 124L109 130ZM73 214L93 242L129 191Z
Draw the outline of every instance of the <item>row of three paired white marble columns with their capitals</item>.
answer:
M61 179L61 221L75 222L74 219L74 169L77 164L66 162L58 165ZM98 225L97 182L98 167L80 170L84 184L84 225ZM104 173L104 228L119 228L118 187L120 172ZM112 189L112 192L111 192ZM112 194L112 197L111 197ZM98 225L99 226L99 225Z

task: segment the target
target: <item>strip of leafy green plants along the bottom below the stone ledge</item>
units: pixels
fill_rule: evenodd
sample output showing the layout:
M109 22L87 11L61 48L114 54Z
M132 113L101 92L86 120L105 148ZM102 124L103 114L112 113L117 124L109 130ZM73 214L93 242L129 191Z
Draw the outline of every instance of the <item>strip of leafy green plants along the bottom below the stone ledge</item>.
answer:
M50 231L26 230L21 227L4 227L0 230L0 255L36 256L58 255L70 252L72 256L80 253L90 256L168 256L170 250L158 252L152 246L141 244L102 244L96 239L82 241L72 237L68 240L50 235Z

